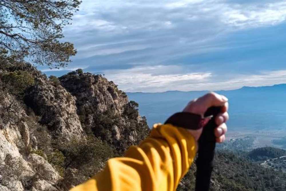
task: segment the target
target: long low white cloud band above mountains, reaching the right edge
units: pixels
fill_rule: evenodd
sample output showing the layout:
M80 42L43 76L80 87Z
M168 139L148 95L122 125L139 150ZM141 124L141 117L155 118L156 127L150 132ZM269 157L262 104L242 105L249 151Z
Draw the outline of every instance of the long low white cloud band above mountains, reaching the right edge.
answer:
M161 71L161 72L160 72ZM232 74L218 78L212 72L182 72L178 66L136 67L104 71L108 79L127 92L162 92L168 90L230 90L243 86L262 86L286 83L286 70L261 71L255 75Z

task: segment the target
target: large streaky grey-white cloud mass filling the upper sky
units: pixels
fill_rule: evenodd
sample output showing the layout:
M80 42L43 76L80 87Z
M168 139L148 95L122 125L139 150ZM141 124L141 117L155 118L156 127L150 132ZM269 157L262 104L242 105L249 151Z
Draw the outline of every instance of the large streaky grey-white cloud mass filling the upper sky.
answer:
M78 59L146 47L177 56L186 51L186 46L192 53L194 43L210 44L230 31L285 21L286 2L250 2L86 0L74 16L73 25L65 28L64 33L78 49L76 64L80 64L76 62Z

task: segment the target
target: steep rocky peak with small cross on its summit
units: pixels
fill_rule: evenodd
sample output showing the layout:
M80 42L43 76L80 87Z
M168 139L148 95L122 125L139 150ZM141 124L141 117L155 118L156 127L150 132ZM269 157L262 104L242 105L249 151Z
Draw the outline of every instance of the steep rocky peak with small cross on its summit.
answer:
M136 106L113 82L91 73L67 74L59 80L76 97L77 114L87 134L92 132L123 152L149 133Z

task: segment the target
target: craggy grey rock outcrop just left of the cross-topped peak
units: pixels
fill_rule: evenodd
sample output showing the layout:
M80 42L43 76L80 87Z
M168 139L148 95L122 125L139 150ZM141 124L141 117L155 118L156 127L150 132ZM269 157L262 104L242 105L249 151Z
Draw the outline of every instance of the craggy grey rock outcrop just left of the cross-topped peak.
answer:
M47 125L54 137L62 141L84 137L75 98L63 87L48 82L31 87L25 103L41 116L40 123Z

